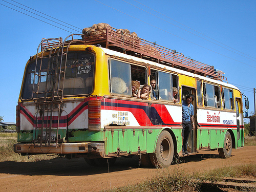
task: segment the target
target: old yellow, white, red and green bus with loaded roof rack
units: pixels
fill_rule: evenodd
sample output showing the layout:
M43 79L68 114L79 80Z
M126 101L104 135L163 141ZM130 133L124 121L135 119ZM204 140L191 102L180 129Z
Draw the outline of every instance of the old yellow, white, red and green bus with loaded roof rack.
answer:
M229 158L243 147L242 93L220 70L111 26L98 31L42 39L25 67L14 152L90 165L137 155L143 166L168 167L182 156L188 94L195 97L188 152L218 149ZM152 79L157 98L132 96L132 81L142 87Z

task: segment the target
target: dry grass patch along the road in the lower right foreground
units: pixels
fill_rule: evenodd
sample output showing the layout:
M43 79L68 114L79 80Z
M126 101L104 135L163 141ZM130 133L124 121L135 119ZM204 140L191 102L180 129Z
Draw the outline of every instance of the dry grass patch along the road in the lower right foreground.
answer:
M216 168L206 173L185 174L185 170L160 170L157 176L143 183L124 187L103 190L108 192L135 192L135 191L237 191L228 188L218 188L215 185L205 185L205 181L215 183L224 177L256 178L256 165L230 166ZM256 191L256 188L243 188L242 191Z

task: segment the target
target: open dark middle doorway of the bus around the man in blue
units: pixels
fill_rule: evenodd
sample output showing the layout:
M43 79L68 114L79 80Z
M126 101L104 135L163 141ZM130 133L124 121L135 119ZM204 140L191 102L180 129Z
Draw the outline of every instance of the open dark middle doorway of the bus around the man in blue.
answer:
M194 95L194 101L191 102L194 106L194 122L195 122L195 129L191 130L188 141L187 141L187 151L190 153L194 153L197 151L197 103L196 103L196 90L194 88L182 86L181 89L182 93L182 102L186 100L186 96L188 94Z

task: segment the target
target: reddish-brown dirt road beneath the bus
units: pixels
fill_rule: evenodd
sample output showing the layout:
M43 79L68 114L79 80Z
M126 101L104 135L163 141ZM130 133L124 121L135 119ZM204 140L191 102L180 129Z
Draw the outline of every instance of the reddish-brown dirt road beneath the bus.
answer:
M230 165L255 164L256 146L232 151L229 159L218 151L200 151L181 158L177 166L187 172L199 172ZM162 172L138 168L139 158L118 158L115 166L92 167L84 159L56 158L40 162L0 162L0 191L100 191L144 181Z

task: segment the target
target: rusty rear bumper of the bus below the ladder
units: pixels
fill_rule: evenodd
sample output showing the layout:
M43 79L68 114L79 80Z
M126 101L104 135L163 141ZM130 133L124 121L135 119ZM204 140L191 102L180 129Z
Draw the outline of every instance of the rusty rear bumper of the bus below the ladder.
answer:
M17 143L13 145L15 153L26 154L84 154L97 153L103 156L104 143L82 142L82 143L51 143L50 146L40 146L40 143Z

